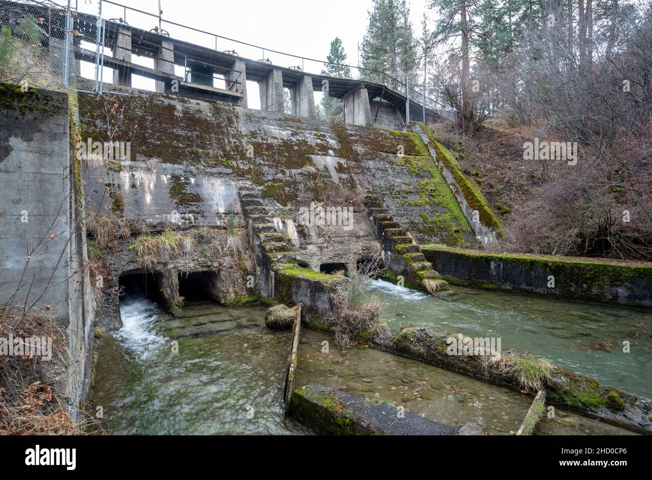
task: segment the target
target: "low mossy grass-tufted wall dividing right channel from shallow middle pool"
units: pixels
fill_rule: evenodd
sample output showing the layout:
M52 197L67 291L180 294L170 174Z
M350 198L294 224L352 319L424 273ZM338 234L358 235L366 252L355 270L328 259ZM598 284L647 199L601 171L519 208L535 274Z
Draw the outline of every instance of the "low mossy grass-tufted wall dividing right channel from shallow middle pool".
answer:
M498 368L488 362L488 355L449 355L449 338L456 334L433 327L401 327L394 337L388 337L379 347L406 358L415 359L458 372L485 382L511 387L524 387L523 377L530 383L539 383L548 390L548 402L595 417L635 432L652 434L647 416L652 412L649 398L632 395L608 385L601 385L595 378L573 373L547 361L548 368L541 368L541 357L515 349L501 350L501 361L509 361L517 368ZM534 378L537 377L537 378ZM535 393L536 388L529 388Z

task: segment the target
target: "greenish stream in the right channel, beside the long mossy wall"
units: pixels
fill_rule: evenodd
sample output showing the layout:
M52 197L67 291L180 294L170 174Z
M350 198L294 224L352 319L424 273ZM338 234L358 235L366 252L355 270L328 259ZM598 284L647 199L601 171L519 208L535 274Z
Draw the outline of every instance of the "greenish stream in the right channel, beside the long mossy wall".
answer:
M469 337L501 338L573 372L652 397L652 313L637 308L452 286L434 297L384 280L372 292L392 333L428 325ZM630 352L623 352L623 342Z

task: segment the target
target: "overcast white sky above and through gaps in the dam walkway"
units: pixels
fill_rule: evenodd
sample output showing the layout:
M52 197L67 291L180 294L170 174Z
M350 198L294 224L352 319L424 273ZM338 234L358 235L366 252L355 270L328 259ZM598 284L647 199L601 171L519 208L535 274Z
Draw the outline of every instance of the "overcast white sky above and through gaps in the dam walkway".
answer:
M62 2L64 0L59 0ZM115 0L128 7L156 14L158 0ZM74 3L75 0L72 0ZM421 18L428 0L409 0L410 14L415 34L421 32ZM97 14L98 0L78 0L83 12ZM371 0L161 0L164 20L181 23L224 37L271 48L280 52L325 60L331 41L340 37L348 55L349 65L357 65L357 45L362 42L368 23ZM123 18L123 9L102 3L102 16ZM432 12L429 14L432 16ZM126 21L136 27L150 29L158 20L127 10ZM181 29L163 23L171 37L215 48L215 37ZM250 59L260 59L263 52L228 40L218 39L218 50L235 50ZM278 53L265 52L272 63L290 67L301 66L301 60ZM319 73L322 64L305 62L306 72ZM86 69L84 69L86 70ZM87 72L82 74L87 76ZM93 74L91 74L91 77ZM104 78L111 78L105 72ZM153 80L134 78L134 87L151 87ZM147 85L147 86L146 86ZM253 86L253 85L252 85ZM254 95L252 95L254 93ZM250 108L258 108L258 95L249 94ZM316 100L319 101L316 93Z

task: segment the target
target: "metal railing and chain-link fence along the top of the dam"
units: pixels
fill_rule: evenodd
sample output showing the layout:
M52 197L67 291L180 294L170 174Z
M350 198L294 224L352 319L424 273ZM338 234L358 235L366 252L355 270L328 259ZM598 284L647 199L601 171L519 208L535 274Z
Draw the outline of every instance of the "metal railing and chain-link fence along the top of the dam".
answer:
M291 59L293 65L288 68L295 68L303 72L306 71L306 63L313 63L315 66L328 66L334 65L343 68L351 68L357 70L358 80L364 80L366 82L378 83L380 85L387 85L389 88L393 89L397 93L400 93L406 97L406 120L411 120L411 115L415 112L419 113L421 120L426 119L426 108L429 111L439 111L441 112L441 107L443 103L435 100L434 98L426 95L427 85L424 83L412 82L408 76L405 76L404 80L400 80L395 76L388 74L386 72L381 72L379 70L372 70L370 68L357 67L353 65L339 65L336 63L331 63L324 60L314 59L310 57L304 57L301 55L295 55L293 53L281 52L280 50L274 50L271 48L265 48L263 46L251 44L249 42L243 42L241 40L236 40L235 38L224 37L223 35L218 35L216 33L211 33L202 29L189 27L188 25L183 25L177 22L171 22L170 20L164 20L162 18L162 10L160 9L160 0L158 0L158 14L152 12L147 12L139 8L128 7L121 3L117 3L112 0L96 0L97 1L97 11L93 12L92 15L95 18L92 21L89 21L88 14L84 15L78 11L80 5L75 1L74 5L71 4L70 0L58 0L59 3L55 0L19 0L19 1L8 1L0 0L0 5L3 5L2 10L0 10L0 20L3 20L3 16L13 16L17 17L19 14L28 20L23 20L27 22L32 22L37 27L43 27L40 30L35 28L33 29L32 37L37 35L38 38L31 38L29 29L22 31L12 27L10 29L12 39L15 42L15 51L17 52L16 56L21 56L18 52L22 53L23 56L31 55L38 59L44 59L40 71L38 68L23 68L23 71L20 71L20 68L10 68L18 65L27 65L29 62L25 59L21 61L14 62L5 62L0 58L0 80L3 81L14 81L27 82L33 85L39 86L48 86L55 85L63 88L72 88L78 89L80 91L91 91L96 93L103 93L105 83L104 82L104 69L105 69L105 54L110 45L106 44L107 39L107 28L108 25L123 23L128 25L129 22L132 22L134 27L144 29L146 31L151 31L156 35L162 35L164 37L170 36L168 29L173 27L176 29L185 29L188 36L192 36L190 32L200 33L201 35L207 35L211 38L211 46L208 48L215 48L218 50L218 40L224 40L226 42L233 42L228 48L231 50L226 50L227 53L237 55L233 50L233 44L240 46L246 46L248 48L253 48L259 50L261 53L261 61L265 63L274 63L279 65L279 62L271 61L267 55L270 53L276 53L277 55L283 55ZM87 5L82 5L83 7L88 7ZM108 7L111 7L109 9ZM116 11L117 9L117 11ZM112 11L111 11L112 10ZM119 18L111 18L106 20L104 16L115 16L118 15ZM140 16L140 18L139 18ZM143 20L142 17L156 19L156 25L153 28L151 25L144 25L143 23L146 20ZM10 22L3 23L7 25ZM15 23L15 22L14 22ZM92 24L91 24L92 23ZM140 24L140 25L139 25ZM165 24L166 29L163 28ZM2 34L5 35L7 29L3 29ZM186 38L184 35L175 35L177 38ZM94 44L91 43L89 39L93 38ZM0 37L2 40L3 39ZM82 43L87 43L87 48L84 48ZM151 44L152 48L166 50L166 47L150 42L146 38L138 38L140 44ZM201 45L201 40L198 40L196 44ZM27 46L27 48L26 48ZM92 55L93 58L93 68L94 72L92 74L93 78L88 78L89 66L83 63L80 63L79 58L82 55L81 50L85 50L86 57L85 61L89 61L89 55ZM171 50L171 49L167 49ZM240 49L239 49L240 50ZM93 52L93 53L89 53ZM134 50L131 50L134 53ZM254 52L255 53L255 52ZM137 55L137 53L134 53ZM149 55L151 57L151 55ZM255 57L256 55L254 55ZM160 56L153 57L157 62L169 62L173 63L173 60L166 59ZM301 65L296 65L296 62L300 61ZM196 59L190 55L185 55L184 67L185 72L183 80L188 82L188 70L192 70L189 65L193 63L201 63L202 65L207 65L205 59ZM8 65L11 64L11 65ZM80 67L81 65L81 67ZM213 76L212 82L213 85L219 85L218 88L224 87L224 90L235 91L237 93L243 93L243 83L242 72L237 70L231 70L223 66L215 65L215 70L218 70L219 74L224 74L224 78ZM83 72L80 70L86 70L86 75L83 75ZM201 72L190 72L190 75L196 76L196 78L201 78L202 76L210 76L203 74ZM181 77L179 77L181 79ZM421 89L419 95L420 98L417 99L417 89ZM417 101L418 100L418 101ZM423 108L426 106L426 108Z

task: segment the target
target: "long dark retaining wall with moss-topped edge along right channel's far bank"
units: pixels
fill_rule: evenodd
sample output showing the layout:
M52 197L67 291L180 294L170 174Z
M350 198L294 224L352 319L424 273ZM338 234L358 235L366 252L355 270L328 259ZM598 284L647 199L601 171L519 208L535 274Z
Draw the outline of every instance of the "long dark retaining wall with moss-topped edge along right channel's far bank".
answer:
M605 259L496 254L444 245L425 245L422 252L451 283L652 307L650 264L628 265ZM554 280L554 286L551 280Z

